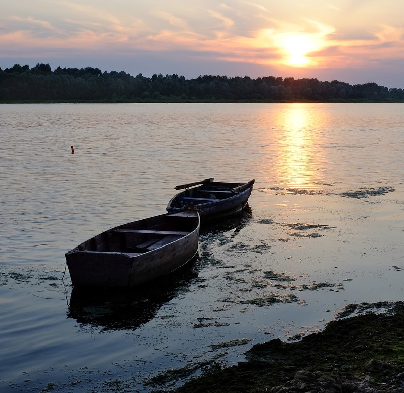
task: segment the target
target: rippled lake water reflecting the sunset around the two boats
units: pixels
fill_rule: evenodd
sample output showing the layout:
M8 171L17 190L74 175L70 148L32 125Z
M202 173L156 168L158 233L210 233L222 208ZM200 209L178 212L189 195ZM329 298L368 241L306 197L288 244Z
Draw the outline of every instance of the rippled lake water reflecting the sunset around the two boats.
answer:
M166 391L402 300L404 104L2 104L0 124L1 391ZM254 190L182 276L73 290L66 251L208 177Z

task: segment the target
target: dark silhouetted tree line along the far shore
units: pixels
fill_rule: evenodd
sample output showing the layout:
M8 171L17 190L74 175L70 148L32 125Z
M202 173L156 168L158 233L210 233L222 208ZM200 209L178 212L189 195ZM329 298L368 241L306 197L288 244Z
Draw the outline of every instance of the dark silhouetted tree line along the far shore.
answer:
M376 83L350 85L316 78L265 76L251 79L204 75L186 79L176 74L131 76L99 68L61 68L49 64L0 68L0 101L166 102L166 101L404 101L401 88Z

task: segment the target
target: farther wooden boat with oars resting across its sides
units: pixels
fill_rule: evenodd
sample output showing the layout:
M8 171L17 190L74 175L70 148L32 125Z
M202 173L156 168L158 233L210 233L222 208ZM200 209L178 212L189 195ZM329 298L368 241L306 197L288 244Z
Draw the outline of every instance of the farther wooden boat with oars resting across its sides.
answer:
M248 183L215 182L213 178L177 185L176 194L167 205L168 212L195 207L202 223L239 214L248 204L255 180ZM194 188L190 188L194 187Z

